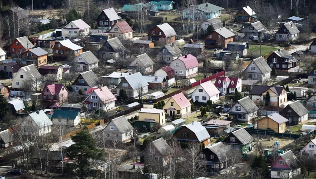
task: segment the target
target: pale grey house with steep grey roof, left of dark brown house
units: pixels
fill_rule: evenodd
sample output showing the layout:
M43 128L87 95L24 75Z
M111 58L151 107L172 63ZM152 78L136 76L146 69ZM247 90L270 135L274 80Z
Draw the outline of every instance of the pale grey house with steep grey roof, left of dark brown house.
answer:
M272 69L265 62L263 57L253 59L244 73L247 79L260 80L262 82L270 80L270 73Z

